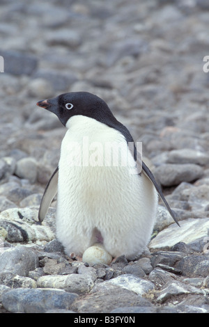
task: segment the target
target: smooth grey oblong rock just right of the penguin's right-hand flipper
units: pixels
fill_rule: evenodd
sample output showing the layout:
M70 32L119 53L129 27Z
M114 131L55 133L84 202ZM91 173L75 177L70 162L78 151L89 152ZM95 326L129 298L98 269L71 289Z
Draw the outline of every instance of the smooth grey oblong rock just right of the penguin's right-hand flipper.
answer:
M166 163L153 171L162 186L174 186L181 182L194 182L203 176L203 169L194 163Z

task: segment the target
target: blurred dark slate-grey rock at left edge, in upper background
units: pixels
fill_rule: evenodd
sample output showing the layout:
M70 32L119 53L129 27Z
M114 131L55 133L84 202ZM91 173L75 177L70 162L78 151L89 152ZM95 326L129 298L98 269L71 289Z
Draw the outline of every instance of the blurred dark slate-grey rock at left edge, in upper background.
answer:
M38 65L38 60L31 54L21 53L19 51L5 50L1 51L4 58L4 71L13 75L31 75Z

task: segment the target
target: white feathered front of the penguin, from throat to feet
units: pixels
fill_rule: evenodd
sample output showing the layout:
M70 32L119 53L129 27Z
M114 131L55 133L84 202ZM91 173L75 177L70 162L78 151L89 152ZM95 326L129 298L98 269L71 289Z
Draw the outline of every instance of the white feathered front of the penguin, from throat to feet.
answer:
M132 154L116 129L82 115L70 118L66 127L59 161L57 238L68 255L82 255L100 242L113 257L136 257L148 244L155 223L153 183L134 173ZM120 143L121 156L127 159L118 156L115 166L112 143Z

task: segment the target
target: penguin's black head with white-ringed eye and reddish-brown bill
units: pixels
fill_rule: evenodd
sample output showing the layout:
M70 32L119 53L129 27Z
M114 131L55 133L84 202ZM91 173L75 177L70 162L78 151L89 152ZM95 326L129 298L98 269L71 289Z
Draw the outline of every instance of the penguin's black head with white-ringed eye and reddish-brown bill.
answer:
M85 115L104 123L116 120L106 102L88 92L63 93L53 99L41 100L37 106L55 113L64 126L74 115Z

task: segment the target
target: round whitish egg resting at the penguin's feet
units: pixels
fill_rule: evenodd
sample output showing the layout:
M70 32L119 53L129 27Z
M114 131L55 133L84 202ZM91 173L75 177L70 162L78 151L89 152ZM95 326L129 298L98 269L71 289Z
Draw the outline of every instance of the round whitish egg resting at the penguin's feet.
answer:
M112 256L100 243L95 243L84 251L82 261L88 264L110 264Z

